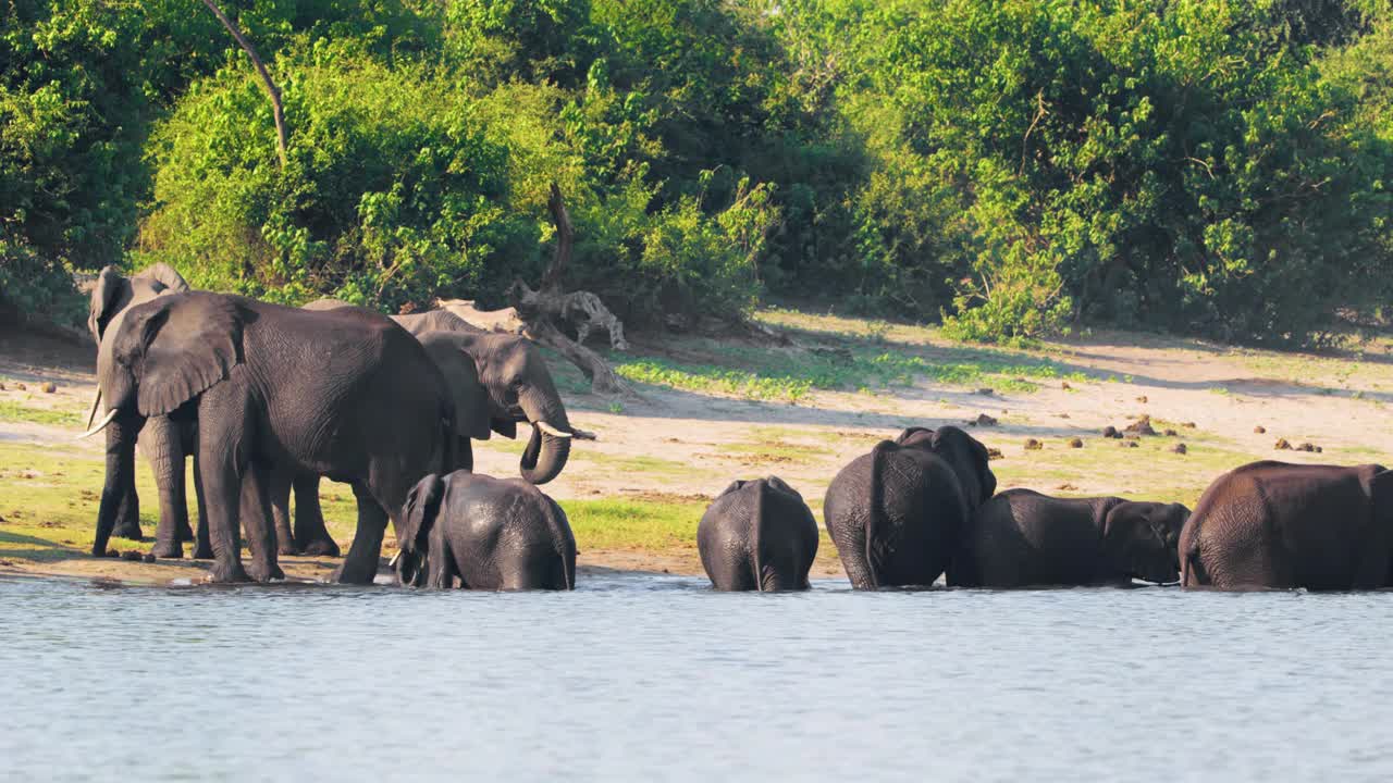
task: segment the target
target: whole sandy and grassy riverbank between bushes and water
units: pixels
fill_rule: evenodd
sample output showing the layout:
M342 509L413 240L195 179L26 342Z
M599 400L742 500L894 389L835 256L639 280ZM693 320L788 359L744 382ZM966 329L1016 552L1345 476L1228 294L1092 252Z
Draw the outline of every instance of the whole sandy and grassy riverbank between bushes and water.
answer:
M589 394L574 368L553 362L573 424L599 435L578 443L561 476L545 486L567 511L582 568L699 574L696 522L730 481L779 475L820 520L837 470L908 425L976 422L972 433L1000 453L992 468L1002 489L1055 495L1194 504L1212 478L1254 460L1393 463L1387 341L1312 355L1100 333L1017 351L956 344L928 327L795 311L759 319L788 343L635 340L613 358L638 398ZM93 354L43 336L0 336L0 574L201 580L206 563L86 553L102 446L74 435L95 392ZM1102 435L1142 417L1151 417L1149 429L1137 425L1134 439ZM1312 451L1279 450L1279 439ZM497 437L476 443L476 467L515 475L521 449ZM137 481L149 535L157 507L143 463ZM330 482L322 493L330 532L347 549L352 496ZM111 546L132 557L149 549L123 539ZM391 546L389 535L383 561ZM281 560L287 575L304 580L325 578L337 563ZM823 534L815 575L840 574Z

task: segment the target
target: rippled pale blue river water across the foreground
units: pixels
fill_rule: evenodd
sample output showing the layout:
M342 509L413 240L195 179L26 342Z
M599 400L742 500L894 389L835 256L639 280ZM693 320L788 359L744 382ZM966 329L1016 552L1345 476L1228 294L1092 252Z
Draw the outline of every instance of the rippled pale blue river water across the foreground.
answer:
M1390 610L0 581L0 779L1389 780Z

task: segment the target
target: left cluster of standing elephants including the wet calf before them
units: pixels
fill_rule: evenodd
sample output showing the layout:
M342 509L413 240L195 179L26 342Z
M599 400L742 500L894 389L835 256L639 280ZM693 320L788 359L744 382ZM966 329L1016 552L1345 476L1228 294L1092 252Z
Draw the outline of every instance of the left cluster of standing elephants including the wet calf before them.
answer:
M160 495L150 555L181 557L194 541L194 556L213 560L212 581L280 578L277 555L338 555L319 507L329 476L351 485L358 504L336 581L375 578L391 518L408 582L574 585L566 515L534 485L556 478L585 433L571 429L532 343L447 312L391 319L333 301L297 309L192 291L166 265L131 277L102 270L88 325L99 389L86 435L106 432L93 555L106 555L111 535L141 538L139 443ZM469 474L471 439L515 437L518 424L531 425L525 481ZM437 524L442 509L471 518Z

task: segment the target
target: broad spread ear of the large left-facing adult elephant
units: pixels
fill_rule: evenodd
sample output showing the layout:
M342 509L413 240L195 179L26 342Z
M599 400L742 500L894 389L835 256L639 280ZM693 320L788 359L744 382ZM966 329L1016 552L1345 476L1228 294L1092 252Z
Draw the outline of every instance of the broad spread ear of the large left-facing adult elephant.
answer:
M242 313L220 294L171 294L130 309L114 351L137 368L137 408L156 417L226 380L242 361ZM114 403L114 400L113 400Z

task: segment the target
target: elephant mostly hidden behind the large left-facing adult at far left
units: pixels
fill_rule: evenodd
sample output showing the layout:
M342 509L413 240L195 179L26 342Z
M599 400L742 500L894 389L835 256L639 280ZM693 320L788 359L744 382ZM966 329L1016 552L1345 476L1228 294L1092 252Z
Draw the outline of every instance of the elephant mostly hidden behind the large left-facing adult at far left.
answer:
M118 327L127 308L148 302L166 294L188 291L184 277L167 263L156 263L127 277L116 266L107 266L92 287L88 308L88 330L98 346L107 329ZM95 415L100 407L100 393L92 404ZM92 417L88 417L92 426ZM120 460L116 432L109 431L106 439L107 483L102 488L103 503L116 509L111 535L141 541L141 506L135 490L135 471L123 471L114 463ZM156 557L182 557L182 542L192 541L194 532L188 524L188 500L184 485L184 458L194 451L196 428L191 421L177 421L170 417L150 417L141 431L139 451L149 461L159 490L160 521L155 532ZM195 557L209 557L206 528L195 548Z

